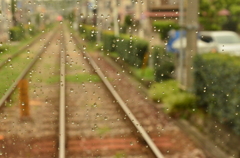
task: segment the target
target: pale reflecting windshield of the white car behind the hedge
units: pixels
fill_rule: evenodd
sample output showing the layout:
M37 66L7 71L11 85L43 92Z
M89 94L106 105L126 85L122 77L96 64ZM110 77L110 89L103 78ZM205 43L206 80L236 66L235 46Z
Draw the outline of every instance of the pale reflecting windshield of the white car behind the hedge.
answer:
M240 38L237 35L219 35L215 37L219 44L234 44L240 43Z

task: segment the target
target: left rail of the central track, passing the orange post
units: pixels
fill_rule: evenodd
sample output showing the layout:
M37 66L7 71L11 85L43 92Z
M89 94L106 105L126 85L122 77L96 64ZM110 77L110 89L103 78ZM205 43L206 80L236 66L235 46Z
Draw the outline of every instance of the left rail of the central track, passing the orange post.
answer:
M29 70L34 66L34 64L37 62L39 57L42 55L42 53L47 49L47 47L50 45L50 41L55 37L58 29L54 33L52 33L49 40L43 45L43 47L40 49L40 51L37 53L37 55L34 57L34 59L31 61L31 63L22 71L22 73L17 77L17 79L14 81L14 83L10 86L10 88L7 90L5 95L0 99L0 107L2 107L7 100L7 98L13 93L15 88L17 87L19 81L23 79Z

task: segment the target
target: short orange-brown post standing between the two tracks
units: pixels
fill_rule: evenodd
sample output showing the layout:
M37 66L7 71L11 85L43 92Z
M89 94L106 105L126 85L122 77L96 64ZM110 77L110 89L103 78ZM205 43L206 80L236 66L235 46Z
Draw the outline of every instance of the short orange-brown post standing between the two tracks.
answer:
M28 99L28 81L22 79L19 84L19 107L20 107L20 116L21 118L29 117L29 99Z

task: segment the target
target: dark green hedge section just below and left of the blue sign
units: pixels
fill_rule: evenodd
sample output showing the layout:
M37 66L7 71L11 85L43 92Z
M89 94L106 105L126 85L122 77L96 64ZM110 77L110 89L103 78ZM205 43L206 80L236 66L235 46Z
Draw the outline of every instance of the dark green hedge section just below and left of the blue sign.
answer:
M152 57L155 70L155 81L172 78L174 71L173 54L167 53L162 46L154 46Z

